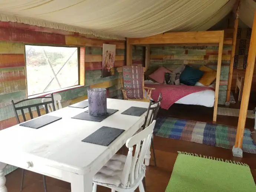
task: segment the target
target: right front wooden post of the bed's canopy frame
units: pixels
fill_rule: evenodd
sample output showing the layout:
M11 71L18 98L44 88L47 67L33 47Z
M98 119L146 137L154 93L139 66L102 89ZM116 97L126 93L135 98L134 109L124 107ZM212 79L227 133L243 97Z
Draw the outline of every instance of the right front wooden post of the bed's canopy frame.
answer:
M219 54L218 54L214 110L213 110L213 121L214 122L216 122L216 120L217 120L217 108L218 108L218 99L219 99L220 70L221 70L221 59L222 59L222 51L223 51L223 41L224 41L224 31L222 31L222 36L220 37L220 42L219 42Z

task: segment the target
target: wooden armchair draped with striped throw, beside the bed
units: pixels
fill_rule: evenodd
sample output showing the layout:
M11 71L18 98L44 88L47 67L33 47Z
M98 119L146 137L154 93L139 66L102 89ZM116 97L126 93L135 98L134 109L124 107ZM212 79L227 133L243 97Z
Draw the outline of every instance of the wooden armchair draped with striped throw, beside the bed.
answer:
M131 65L117 67L116 70L120 76L124 100L150 102L151 92L155 88L145 87L144 85L145 67L142 67L142 65Z

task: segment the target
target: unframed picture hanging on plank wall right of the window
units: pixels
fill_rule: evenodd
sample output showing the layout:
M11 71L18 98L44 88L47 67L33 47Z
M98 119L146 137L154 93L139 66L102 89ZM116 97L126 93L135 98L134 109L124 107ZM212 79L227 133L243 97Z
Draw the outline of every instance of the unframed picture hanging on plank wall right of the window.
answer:
M115 75L116 45L103 44L102 46L102 77Z

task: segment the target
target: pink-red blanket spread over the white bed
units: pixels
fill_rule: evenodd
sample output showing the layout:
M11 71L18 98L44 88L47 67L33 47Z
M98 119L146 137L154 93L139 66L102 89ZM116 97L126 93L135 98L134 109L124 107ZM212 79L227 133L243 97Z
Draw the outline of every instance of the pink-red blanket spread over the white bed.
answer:
M213 89L206 86L187 86L187 85L163 85L163 84L145 84L146 87L155 87L152 90L151 98L157 101L158 96L162 93L161 108L169 109L177 100L191 93L196 93L208 89Z

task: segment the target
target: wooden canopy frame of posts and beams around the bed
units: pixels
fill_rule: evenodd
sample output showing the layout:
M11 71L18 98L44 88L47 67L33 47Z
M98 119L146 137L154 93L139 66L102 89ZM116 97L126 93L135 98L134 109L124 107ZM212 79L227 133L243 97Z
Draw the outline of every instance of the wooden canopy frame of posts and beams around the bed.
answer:
M230 40L227 40L227 41L228 42L226 43L230 44ZM139 45L139 46L146 47L145 67L147 69L149 65L150 44L185 44L185 43L186 44L189 44L189 43L219 44L214 111L213 111L213 121L216 122L219 86L220 86L221 59L222 59L222 51L223 51L223 43L224 43L224 30L204 31L204 32L171 32L171 33L158 34L150 37L127 38L127 50L126 50L127 65L131 65L132 63L132 45Z

